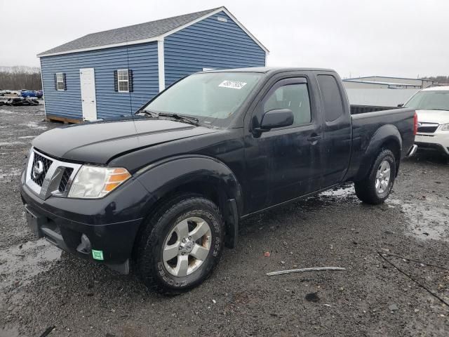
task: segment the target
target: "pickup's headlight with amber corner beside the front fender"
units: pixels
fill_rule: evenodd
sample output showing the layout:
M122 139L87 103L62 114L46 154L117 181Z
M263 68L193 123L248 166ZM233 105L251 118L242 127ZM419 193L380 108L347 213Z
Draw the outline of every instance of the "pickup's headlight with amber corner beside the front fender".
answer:
M69 198L101 198L130 178L126 169L83 165L76 173Z

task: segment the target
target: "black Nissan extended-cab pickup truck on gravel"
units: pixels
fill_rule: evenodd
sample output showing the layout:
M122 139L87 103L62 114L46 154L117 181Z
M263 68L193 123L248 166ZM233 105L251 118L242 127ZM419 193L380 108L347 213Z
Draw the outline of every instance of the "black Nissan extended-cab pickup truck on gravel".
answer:
M382 203L416 147L415 111L351 116L333 70L193 74L133 116L55 128L22 173L27 222L61 249L177 293L203 282L239 223L353 181Z

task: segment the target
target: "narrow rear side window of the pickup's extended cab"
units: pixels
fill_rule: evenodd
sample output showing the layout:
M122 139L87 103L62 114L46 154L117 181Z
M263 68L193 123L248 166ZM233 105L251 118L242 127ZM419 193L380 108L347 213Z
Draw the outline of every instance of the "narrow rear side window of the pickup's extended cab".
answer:
M342 96L337 80L332 75L318 75L326 121L335 121L343 114Z

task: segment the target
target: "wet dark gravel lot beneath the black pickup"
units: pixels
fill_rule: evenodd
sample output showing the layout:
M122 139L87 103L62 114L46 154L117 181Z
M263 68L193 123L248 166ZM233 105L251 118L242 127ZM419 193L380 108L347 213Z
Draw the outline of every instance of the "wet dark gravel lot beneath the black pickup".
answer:
M20 170L34 136L61 126L43 117L0 107L0 336L449 336L449 308L377 253L449 303L449 269L432 266L449 268L446 159L403 161L381 206L347 185L246 220L205 284L163 297L29 232ZM347 270L266 275L319 266Z

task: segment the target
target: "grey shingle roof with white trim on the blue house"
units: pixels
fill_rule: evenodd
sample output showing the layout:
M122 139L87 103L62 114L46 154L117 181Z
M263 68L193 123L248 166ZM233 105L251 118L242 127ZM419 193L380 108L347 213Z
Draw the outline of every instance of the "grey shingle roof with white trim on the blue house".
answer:
M253 34L248 32L248 30L243 27L243 25L241 25L241 23L237 21L231 13L229 13L229 11L227 11L227 8L223 6L208 9L207 11L178 15L172 18L88 34L84 37L80 37L79 39L67 42L67 44L62 44L61 46L49 49L43 53L39 53L37 56L42 57L65 53L77 53L80 51L91 51L96 49L157 41L163 39L163 37L166 37L169 34L173 34L180 29L193 25L194 23L221 11L224 11L227 15L229 15L229 17L232 18L232 20L234 20L234 22L236 22L236 24L239 25L249 35L249 37L251 37L262 49L264 49L266 53L268 52L268 49L265 48L260 41L253 36Z

